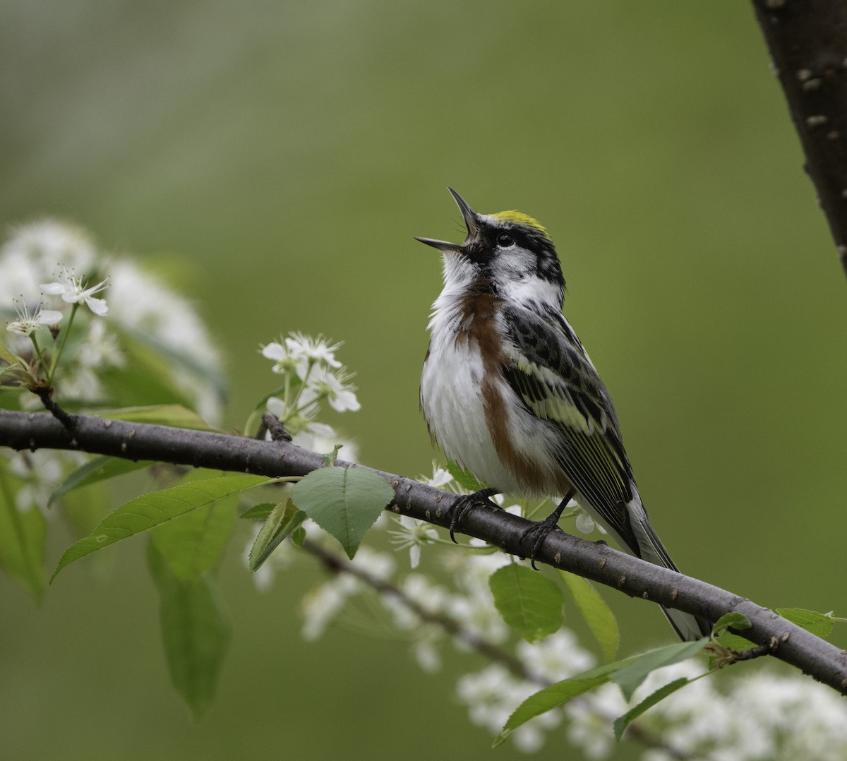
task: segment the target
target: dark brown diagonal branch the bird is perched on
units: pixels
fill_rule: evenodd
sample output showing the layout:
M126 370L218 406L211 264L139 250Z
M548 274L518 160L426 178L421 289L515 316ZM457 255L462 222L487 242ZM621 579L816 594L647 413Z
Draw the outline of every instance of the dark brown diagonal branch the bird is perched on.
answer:
M324 466L320 455L287 442L263 442L90 415L76 416L73 430L67 430L50 414L0 410L0 446L33 451L71 449L268 476L306 475ZM338 464L351 465L341 461ZM389 506L394 512L449 527L448 514L457 499L455 494L399 475L374 472L394 486L395 502ZM528 526L529 521L505 510L476 506L462 522L462 532L523 557L529 549L523 546L523 532ZM785 663L847 695L847 652L744 597L561 531L547 537L536 560L611 586L630 597L708 620L715 621L733 611L745 614L752 624L743 632L747 639L767 646Z

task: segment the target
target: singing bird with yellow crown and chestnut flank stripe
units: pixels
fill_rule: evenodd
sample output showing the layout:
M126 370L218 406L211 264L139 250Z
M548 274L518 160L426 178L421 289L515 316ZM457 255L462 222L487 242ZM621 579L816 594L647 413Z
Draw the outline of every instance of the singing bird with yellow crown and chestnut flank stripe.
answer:
M451 537L474 504L507 493L562 497L524 532L534 559L574 497L627 553L678 570L635 485L612 397L562 314L565 279L549 232L518 211L477 214L447 188L462 243L416 237L442 253L420 403L433 441L482 486L452 508ZM706 619L662 608L684 641Z

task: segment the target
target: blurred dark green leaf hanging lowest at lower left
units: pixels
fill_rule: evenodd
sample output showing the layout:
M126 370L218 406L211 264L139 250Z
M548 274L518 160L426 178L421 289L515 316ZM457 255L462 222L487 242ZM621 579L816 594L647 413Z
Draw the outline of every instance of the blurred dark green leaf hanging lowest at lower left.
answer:
M171 572L154 542L148 545L147 558L159 592L159 617L170 678L195 718L199 718L214 697L230 644L230 620L208 576L181 580Z

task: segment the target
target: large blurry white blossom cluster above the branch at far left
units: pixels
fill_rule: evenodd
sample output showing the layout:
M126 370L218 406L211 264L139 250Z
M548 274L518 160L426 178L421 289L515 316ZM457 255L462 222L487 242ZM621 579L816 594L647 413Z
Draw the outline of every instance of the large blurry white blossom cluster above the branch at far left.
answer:
M25 225L0 247L2 314L10 318L7 345L21 358L19 369L31 376L42 365L42 380L57 386L64 403L139 403L116 397L108 380L131 370L128 354L153 352L163 358L174 397L213 422L220 417L219 353L191 305L138 265L101 253L71 225L52 219ZM39 338L46 326L52 347ZM7 390L10 375L3 375Z

